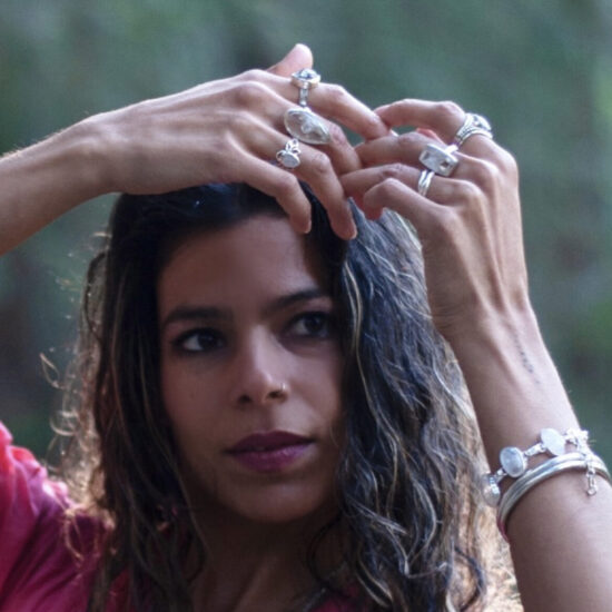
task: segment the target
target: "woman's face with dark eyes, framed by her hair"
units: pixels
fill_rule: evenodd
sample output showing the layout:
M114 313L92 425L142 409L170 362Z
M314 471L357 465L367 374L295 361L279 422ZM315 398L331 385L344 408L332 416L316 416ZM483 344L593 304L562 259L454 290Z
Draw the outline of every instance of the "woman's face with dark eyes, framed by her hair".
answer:
M196 235L157 290L164 402L193 502L266 523L332 505L343 359L304 238L268 216Z

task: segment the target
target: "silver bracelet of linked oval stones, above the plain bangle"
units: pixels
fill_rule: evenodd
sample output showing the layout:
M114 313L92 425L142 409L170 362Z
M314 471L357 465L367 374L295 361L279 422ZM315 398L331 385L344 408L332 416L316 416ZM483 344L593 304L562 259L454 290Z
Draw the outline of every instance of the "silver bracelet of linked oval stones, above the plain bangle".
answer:
M481 491L484 501L495 507L502 497L500 483L506 477L519 478L527 470L527 461L534 455L546 453L552 456L565 454L565 446L573 444L579 451L586 453L589 448L589 432L581 430L567 430L561 434L552 427L540 432L540 440L526 451L516 446L505 446L500 452L501 467L496 472L483 474L481 477Z

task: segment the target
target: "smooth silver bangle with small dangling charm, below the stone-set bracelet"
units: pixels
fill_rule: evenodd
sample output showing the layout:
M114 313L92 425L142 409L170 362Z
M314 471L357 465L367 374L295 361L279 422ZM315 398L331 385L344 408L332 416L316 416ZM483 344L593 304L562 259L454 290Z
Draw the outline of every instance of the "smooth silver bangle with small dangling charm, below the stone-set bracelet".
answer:
M533 470L525 472L516 482L514 482L505 492L497 510L497 527L504 540L507 542L506 525L510 513L514 510L519 501L535 485L567 470L586 470L586 494L594 495L598 492L595 475L603 476L610 481L610 472L602 458L591 451L583 450L575 453L555 456L542 463Z

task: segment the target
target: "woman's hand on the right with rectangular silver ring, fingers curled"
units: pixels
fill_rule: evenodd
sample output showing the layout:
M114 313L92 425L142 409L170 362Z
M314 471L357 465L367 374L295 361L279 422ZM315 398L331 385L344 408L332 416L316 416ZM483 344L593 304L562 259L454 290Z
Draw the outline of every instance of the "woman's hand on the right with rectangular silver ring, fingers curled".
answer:
M423 246L427 296L438 330L453 339L492 316L529 305L517 169L510 154L483 135L455 154L450 177L435 175L425 196L418 156L427 144L453 141L465 112L452 102L401 100L376 109L389 126L414 131L359 145L364 169L342 184L366 216L389 208L407 218Z

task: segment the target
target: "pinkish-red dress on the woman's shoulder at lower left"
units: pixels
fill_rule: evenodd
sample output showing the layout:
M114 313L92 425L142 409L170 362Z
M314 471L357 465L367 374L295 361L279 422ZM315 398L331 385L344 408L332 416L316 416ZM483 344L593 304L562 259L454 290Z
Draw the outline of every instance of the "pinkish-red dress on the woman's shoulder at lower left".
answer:
M33 455L11 442L0 423L0 612L85 612L96 569L91 542L97 523L79 520L85 554L79 565L62 532L70 506L66 486L49 480ZM351 610L328 601L317 612Z

